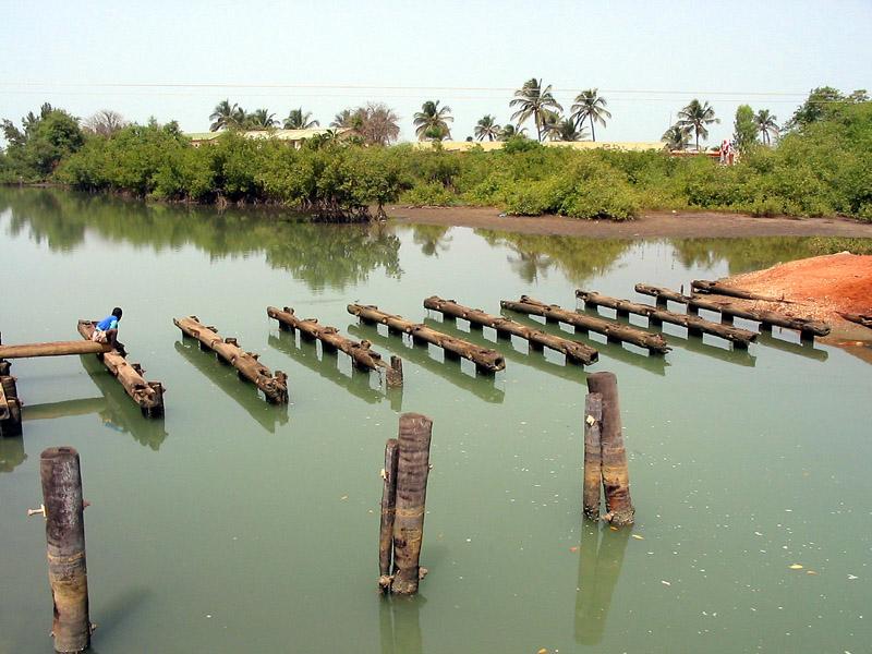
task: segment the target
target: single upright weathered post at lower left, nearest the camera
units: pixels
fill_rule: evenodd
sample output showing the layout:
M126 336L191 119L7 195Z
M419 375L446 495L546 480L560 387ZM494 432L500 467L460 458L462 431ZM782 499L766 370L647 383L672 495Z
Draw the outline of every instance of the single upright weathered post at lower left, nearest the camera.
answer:
M46 517L48 579L55 603L51 634L56 652L83 652L90 645L88 572L78 452L51 447L39 457Z

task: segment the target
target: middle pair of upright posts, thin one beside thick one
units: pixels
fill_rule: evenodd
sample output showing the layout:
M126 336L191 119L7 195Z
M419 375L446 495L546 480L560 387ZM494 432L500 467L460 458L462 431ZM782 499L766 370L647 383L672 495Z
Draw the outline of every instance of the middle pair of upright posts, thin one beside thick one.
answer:
M397 450L391 451L388 440L385 447L385 487L382 496L382 531L379 533L379 579L378 585L385 592L398 595L414 595L417 584L426 569L420 566L421 543L424 536L424 512L427 496L427 476L429 474L429 443L433 434L433 421L420 413L403 413L400 416L400 433ZM396 475L390 476L390 469L396 459ZM389 488L393 479L396 488ZM392 511L392 572L390 557L384 554L387 534L386 522L390 521L390 497L396 498Z

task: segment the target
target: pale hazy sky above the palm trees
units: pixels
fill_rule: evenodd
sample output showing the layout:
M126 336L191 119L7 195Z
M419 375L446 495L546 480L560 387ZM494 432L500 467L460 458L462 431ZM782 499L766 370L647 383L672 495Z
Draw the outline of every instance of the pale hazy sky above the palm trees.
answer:
M872 90L872 0L0 0L0 117L16 123L48 101L201 132L229 98L278 119L302 107L326 126L383 101L413 140L433 99L460 141L486 113L508 122L513 89L535 76L567 111L600 89L613 118L598 141L656 142L699 98L722 119L716 144L741 104L782 122L813 87Z

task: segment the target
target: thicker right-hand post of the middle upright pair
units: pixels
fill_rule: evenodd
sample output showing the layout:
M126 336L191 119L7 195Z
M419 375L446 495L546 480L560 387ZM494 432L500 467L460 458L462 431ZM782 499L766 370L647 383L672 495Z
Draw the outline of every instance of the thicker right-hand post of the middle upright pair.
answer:
M397 510L393 519L392 593L413 595L420 580L421 542L429 474L433 421L419 413L400 416Z

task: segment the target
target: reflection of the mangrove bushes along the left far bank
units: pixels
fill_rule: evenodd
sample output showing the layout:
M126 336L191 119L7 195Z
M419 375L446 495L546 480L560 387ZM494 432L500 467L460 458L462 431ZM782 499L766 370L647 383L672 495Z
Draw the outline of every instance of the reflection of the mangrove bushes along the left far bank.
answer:
M9 233L25 229L52 251L73 251L94 230L102 238L159 252L193 245L211 258L263 252L267 263L305 281L312 289L342 289L365 281L376 269L402 274L400 241L384 226L315 225L276 210L129 202L52 190L7 191L0 213L9 209Z

